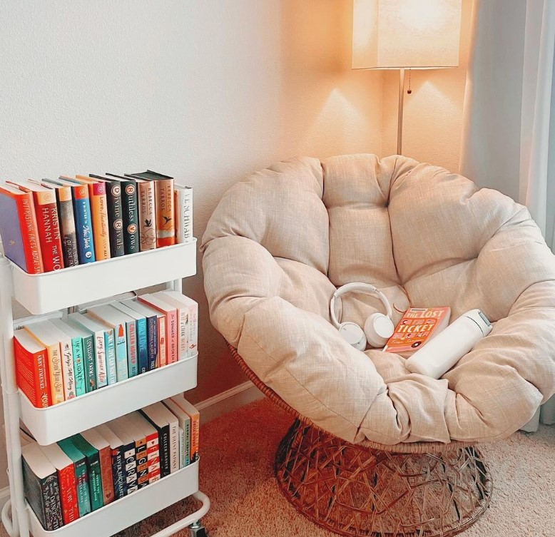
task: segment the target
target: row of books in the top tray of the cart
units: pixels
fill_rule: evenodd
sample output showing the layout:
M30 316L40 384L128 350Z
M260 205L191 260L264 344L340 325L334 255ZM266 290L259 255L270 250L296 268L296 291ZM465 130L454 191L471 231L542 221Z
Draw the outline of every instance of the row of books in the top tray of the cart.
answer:
M4 254L25 272L193 240L193 189L147 170L0 184Z

